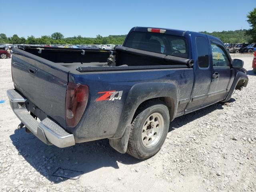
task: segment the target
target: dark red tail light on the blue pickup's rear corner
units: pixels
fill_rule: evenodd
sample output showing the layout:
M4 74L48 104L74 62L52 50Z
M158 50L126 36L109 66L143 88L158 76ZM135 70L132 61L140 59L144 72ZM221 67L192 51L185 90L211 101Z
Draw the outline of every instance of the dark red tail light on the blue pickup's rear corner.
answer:
M66 92L66 125L75 127L81 120L88 102L88 86L68 83Z

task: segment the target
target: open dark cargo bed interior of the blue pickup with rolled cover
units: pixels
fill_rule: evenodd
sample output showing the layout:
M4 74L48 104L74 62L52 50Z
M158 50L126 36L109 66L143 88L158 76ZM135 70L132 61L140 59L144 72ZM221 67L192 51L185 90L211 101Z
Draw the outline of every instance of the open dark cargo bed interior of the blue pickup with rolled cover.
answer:
M82 50L74 48L42 48L38 46L19 46L14 49L17 53L25 53L32 58L43 58L46 63L54 66L63 66L66 71L98 71L100 67L107 64L110 54L113 55L114 62L111 66L126 66L125 70L134 70L134 66L139 69L146 69L148 66L156 68L180 68L190 67L193 61L176 56L152 53L144 50L116 47L116 50ZM116 55L118 54L118 57ZM190 63L191 62L191 63ZM147 66L147 67L142 67ZM162 66L162 67L161 67ZM154 67L151 67L154 68ZM86 69L86 70L81 70ZM102 68L101 71L111 71L113 68ZM121 70L121 68L118 68Z

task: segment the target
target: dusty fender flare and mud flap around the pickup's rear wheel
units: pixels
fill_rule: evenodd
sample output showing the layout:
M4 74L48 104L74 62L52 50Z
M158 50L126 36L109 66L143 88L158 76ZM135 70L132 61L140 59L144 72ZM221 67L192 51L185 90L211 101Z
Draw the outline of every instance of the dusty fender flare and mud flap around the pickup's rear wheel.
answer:
M167 102L167 106L171 108L170 120L172 120L178 107L178 90L178 86L174 83L146 82L132 86L126 98L116 134L109 138L110 146L120 153L126 152L132 118L140 104L146 100L169 98L172 102Z

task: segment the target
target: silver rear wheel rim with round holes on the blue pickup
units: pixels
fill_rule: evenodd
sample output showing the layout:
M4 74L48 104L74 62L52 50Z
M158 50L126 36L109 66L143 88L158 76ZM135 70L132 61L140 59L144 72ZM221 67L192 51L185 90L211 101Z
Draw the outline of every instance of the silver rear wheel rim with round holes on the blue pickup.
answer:
M143 124L141 132L142 144L146 148L153 147L164 132L164 118L160 113L153 113Z

